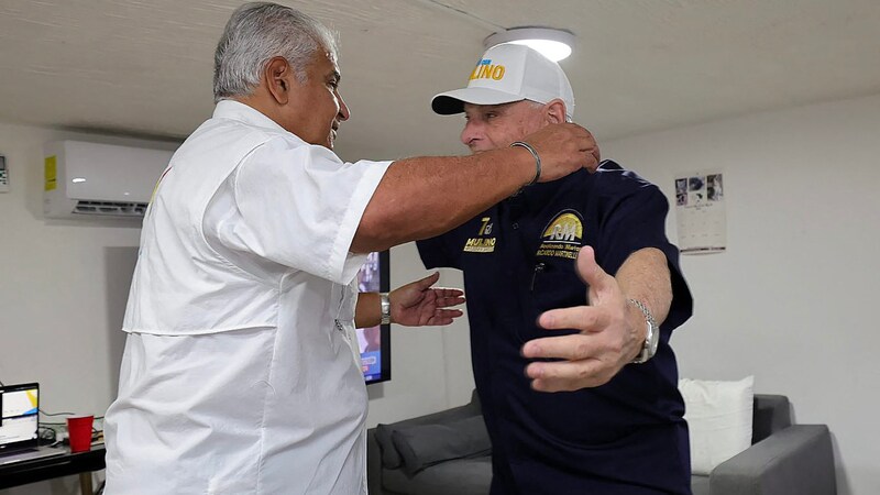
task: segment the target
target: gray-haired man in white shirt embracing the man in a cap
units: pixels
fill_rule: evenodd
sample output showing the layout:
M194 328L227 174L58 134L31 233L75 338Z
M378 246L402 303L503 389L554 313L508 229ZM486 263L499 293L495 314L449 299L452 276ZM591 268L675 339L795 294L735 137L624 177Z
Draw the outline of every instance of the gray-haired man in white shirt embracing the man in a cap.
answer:
M229 20L213 117L175 153L144 219L105 422L107 494L365 493L352 330L448 321L460 300L430 289L437 275L358 297L366 253L597 165L574 124L527 138L540 162L516 147L343 163L337 61L332 33L294 9L249 3Z

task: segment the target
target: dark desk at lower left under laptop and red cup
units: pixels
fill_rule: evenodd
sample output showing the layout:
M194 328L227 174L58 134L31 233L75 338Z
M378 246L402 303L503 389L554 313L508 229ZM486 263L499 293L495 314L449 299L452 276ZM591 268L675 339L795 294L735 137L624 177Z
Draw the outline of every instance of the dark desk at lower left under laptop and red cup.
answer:
M91 495L94 493L91 472L105 468L105 453L103 446L99 444L91 446L91 450L88 452L70 453L67 451L64 455L0 466L0 488L78 474L80 492L82 495Z

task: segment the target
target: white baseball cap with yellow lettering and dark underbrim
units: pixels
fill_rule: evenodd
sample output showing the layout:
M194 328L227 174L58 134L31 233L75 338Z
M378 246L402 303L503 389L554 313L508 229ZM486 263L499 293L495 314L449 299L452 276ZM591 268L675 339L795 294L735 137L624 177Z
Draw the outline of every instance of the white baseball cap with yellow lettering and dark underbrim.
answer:
M531 100L565 102L565 117L574 116L574 94L556 62L526 45L504 43L488 48L471 73L468 87L441 92L431 108L441 116L464 111L464 103L501 105Z

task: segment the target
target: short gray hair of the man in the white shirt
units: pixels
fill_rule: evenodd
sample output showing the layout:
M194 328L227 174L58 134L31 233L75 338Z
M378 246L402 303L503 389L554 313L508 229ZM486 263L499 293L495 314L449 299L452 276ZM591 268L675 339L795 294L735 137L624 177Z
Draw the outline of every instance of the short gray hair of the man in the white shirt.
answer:
M251 95L273 57L284 57L300 82L315 52L337 58L337 35L317 20L289 7L245 3L234 12L213 57L213 100Z

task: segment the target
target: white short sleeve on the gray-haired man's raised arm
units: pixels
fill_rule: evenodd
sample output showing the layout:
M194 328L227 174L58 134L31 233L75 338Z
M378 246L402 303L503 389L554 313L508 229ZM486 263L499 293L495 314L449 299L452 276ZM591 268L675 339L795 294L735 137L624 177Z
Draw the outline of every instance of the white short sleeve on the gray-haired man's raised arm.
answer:
M363 262L349 255L354 233L388 165L344 163L322 146L271 140L235 172L234 237L258 256L348 284Z

